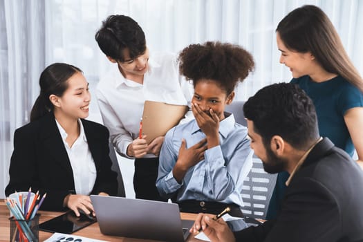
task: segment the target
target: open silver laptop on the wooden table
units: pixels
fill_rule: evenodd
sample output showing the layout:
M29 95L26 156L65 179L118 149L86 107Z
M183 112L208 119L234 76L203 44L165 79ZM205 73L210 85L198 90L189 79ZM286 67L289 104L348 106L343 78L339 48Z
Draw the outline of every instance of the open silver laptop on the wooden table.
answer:
M91 195L102 234L185 241L194 221L181 220L176 203Z

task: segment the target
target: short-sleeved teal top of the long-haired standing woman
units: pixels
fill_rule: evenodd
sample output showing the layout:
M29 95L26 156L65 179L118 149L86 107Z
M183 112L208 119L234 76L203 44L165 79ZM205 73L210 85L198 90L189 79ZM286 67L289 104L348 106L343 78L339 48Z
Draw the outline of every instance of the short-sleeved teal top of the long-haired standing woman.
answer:
M363 106L362 92L340 75L325 82L314 82L310 76L304 75L291 82L299 84L313 100L320 135L328 137L335 146L353 156L355 148L344 118L350 109Z

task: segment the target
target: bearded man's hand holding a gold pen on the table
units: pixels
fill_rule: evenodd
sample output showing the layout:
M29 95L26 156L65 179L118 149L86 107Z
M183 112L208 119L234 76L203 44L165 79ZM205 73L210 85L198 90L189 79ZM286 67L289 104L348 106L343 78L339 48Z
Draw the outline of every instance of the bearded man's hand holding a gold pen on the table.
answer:
M189 230L191 233L198 233L200 229L204 234L214 242L235 242L234 234L228 227L223 218L214 221L212 214L198 214L193 227Z

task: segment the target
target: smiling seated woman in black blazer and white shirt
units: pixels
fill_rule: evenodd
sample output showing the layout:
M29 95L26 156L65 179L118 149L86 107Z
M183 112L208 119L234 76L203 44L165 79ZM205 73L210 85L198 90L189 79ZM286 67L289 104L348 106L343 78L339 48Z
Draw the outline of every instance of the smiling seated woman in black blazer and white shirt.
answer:
M15 191L46 193L42 210L67 207L80 216L94 213L90 194L115 195L109 131L89 115L88 82L69 64L48 66L30 113L30 123L15 131L6 196Z

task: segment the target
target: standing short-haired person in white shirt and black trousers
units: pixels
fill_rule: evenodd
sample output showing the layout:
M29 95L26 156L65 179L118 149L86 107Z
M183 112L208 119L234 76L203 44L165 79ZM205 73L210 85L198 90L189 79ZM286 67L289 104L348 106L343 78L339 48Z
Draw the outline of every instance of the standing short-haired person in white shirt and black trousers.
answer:
M136 198L165 201L155 185L164 136L148 145L145 136L139 134L140 118L145 100L186 105L192 99L191 85L180 76L176 55L149 58L145 34L130 17L109 16L95 39L115 64L97 86L97 100L111 142L120 156L135 158Z

